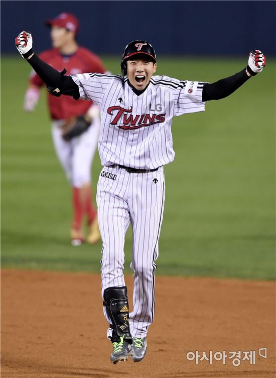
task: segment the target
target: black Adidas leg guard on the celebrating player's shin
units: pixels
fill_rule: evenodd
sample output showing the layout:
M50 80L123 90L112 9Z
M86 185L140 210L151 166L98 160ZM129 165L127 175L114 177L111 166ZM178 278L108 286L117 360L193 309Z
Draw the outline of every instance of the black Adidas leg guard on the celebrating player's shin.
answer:
M119 342L120 337L132 344L129 330L128 301L126 286L120 288L108 288L103 292L103 305L111 319L113 329L112 342Z

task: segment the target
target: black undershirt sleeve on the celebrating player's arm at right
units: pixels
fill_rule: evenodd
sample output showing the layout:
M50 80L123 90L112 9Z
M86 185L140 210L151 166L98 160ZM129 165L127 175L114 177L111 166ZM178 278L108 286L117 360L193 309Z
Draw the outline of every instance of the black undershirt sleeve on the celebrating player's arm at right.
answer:
M245 68L235 75L218 80L211 84L204 84L202 90L202 101L220 100L229 96L238 89L250 77L247 76Z

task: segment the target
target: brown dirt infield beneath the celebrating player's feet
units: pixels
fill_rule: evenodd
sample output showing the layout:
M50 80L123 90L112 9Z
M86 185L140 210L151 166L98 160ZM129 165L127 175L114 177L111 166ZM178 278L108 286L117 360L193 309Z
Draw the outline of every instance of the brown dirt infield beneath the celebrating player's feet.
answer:
M112 365L105 334L99 275L2 270L3 378L275 377L275 286L157 276L146 358ZM256 353L255 364L186 358L263 347L267 359Z

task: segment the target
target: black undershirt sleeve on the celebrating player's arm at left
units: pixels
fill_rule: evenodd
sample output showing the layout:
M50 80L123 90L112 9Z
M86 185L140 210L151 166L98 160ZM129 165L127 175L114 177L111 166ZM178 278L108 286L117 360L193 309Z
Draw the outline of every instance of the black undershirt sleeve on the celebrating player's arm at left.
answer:
M79 99L79 87L71 76L64 76L66 71L62 73L59 72L41 60L36 54L34 54L30 59L27 59L27 62L31 64L36 73L47 86L53 87L54 89L59 88L61 94L72 96L75 100Z

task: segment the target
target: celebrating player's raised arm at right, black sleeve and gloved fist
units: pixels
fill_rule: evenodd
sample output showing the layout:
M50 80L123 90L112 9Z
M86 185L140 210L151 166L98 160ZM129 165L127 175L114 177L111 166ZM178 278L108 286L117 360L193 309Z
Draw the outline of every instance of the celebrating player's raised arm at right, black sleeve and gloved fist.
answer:
M265 56L260 50L251 50L248 65L235 75L218 80L212 84L206 83L202 90L202 101L220 100L229 96L251 76L261 72L265 66Z

